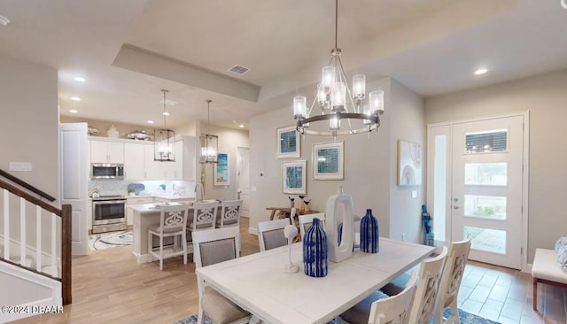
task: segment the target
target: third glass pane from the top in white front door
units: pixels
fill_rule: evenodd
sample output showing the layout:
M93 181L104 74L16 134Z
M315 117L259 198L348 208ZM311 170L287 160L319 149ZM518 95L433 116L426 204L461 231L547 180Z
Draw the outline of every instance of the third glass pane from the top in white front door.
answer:
M463 216L506 220L506 197L464 195Z

